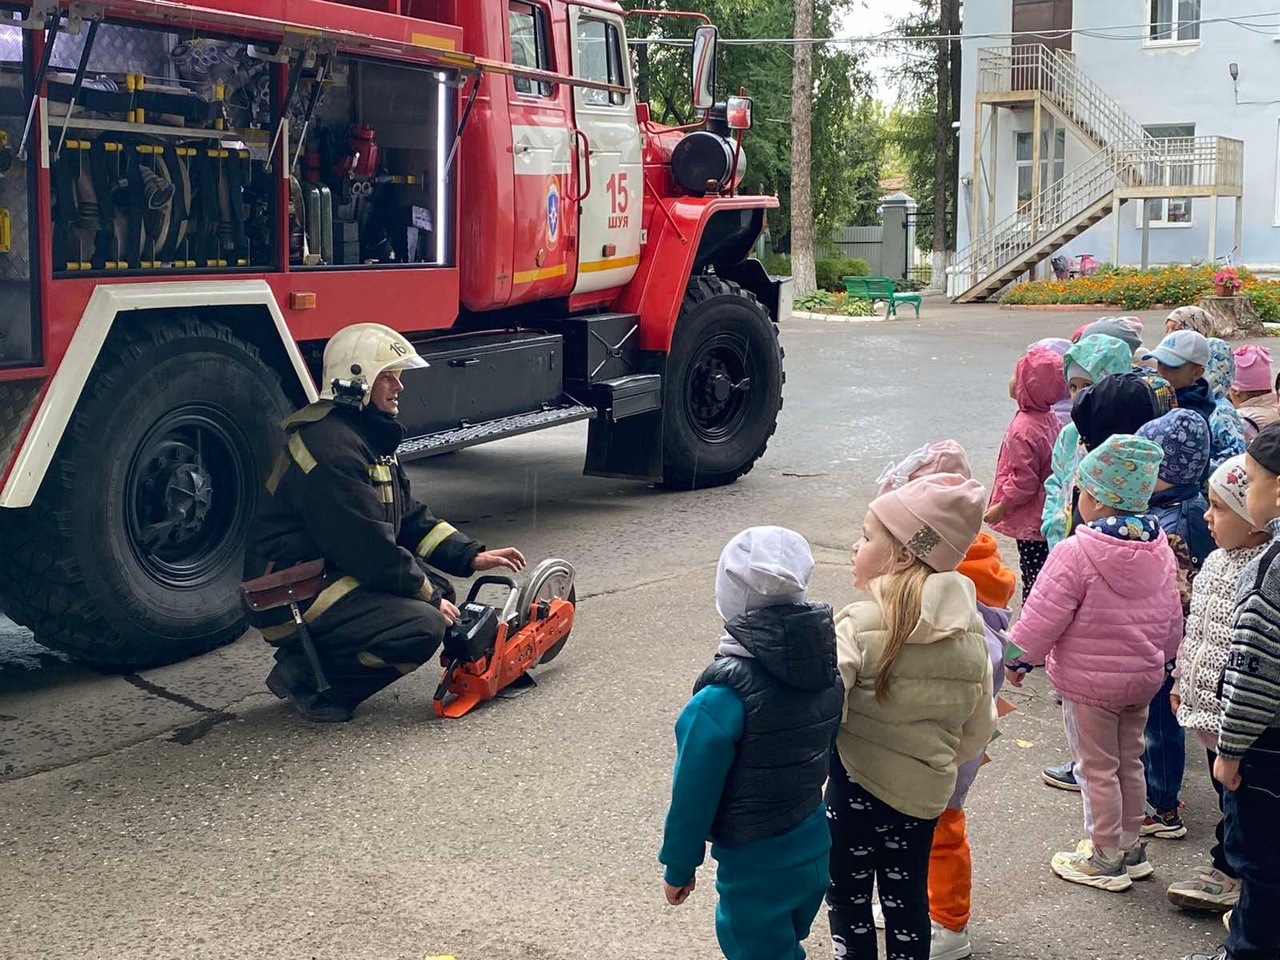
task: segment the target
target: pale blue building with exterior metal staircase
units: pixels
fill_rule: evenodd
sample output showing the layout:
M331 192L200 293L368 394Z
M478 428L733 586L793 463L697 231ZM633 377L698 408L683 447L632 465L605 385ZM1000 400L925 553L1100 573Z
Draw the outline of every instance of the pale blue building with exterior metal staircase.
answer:
M993 296L1029 271L1051 275L1057 255L1155 265L1231 253L1280 270L1277 10L1276 0L965 3L948 292Z

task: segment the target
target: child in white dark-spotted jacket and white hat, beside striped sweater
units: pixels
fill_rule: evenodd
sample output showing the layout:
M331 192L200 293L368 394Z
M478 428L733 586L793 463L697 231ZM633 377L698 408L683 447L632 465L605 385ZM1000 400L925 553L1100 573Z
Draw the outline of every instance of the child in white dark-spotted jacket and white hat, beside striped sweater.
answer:
M1240 573L1262 553L1267 532L1258 530L1245 507L1248 475L1244 456L1231 457L1213 471L1208 480L1210 530L1219 549L1201 567L1192 588L1192 609L1187 618L1187 636L1178 650L1178 687L1171 705L1178 722L1193 731L1208 751L1210 781L1222 808L1222 785L1213 780L1217 759L1217 735L1222 724L1222 703L1219 686L1231 649L1231 620L1235 614L1235 590ZM1224 822L1219 819L1216 842L1210 851L1211 867L1194 879L1179 881L1169 887L1170 901L1192 910L1230 910L1240 899L1240 881L1222 847Z

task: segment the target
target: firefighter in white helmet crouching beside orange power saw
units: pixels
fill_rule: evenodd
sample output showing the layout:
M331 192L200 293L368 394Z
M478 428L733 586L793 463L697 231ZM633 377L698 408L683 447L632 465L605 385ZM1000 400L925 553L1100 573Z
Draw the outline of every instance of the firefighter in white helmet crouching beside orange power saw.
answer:
M288 608L255 614L276 645L266 685L314 722L343 722L357 704L426 663L458 616L435 572L520 571L513 547L486 550L413 499L396 458L404 439L401 371L426 367L381 324L355 324L324 351L324 390L284 424L285 448L266 483L246 580L324 559L319 593L298 604L324 680ZM434 567L435 570L431 570Z

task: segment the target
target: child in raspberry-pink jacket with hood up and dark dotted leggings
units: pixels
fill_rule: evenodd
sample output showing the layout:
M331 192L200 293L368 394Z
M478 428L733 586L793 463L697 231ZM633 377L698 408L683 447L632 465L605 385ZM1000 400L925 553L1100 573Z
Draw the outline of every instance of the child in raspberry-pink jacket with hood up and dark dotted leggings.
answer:
M1032 347L1014 372L1018 413L1005 431L996 461L991 507L983 517L992 529L1018 541L1023 599L1044 566L1048 545L1041 532L1044 480L1052 470L1053 442L1061 431L1053 403L1068 396L1062 361L1051 349Z

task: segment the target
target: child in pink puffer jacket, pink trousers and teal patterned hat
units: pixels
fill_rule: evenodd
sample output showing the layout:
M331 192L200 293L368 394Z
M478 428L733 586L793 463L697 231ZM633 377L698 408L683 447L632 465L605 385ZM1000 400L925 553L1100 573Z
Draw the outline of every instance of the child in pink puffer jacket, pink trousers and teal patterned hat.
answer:
M1153 872L1138 838L1142 732L1183 636L1174 556L1147 513L1161 456L1151 440L1120 434L1084 458L1084 524L1050 553L1010 635L1016 655L1006 660L1015 685L1044 663L1062 698L1089 838L1056 854L1053 873L1108 891Z

